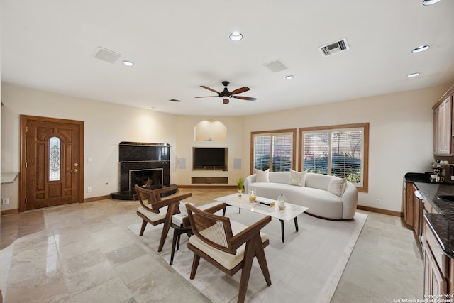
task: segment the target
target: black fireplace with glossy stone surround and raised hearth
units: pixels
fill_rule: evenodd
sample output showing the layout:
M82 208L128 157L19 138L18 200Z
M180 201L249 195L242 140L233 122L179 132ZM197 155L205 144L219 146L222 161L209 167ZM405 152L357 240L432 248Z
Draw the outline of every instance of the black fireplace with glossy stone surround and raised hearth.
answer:
M120 192L112 193L112 199L132 200L135 184L148 189L169 187L162 197L177 192L177 186L170 184L169 144L121 142L118 146Z

